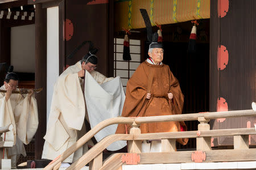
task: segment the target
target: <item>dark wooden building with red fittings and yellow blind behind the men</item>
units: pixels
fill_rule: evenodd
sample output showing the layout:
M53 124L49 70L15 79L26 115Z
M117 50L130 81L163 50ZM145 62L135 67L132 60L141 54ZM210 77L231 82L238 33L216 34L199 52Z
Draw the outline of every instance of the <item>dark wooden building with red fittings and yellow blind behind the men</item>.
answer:
M185 96L184 114L250 109L251 102L256 100L255 7L254 0L19 0L0 3L1 63L13 65L13 56L23 60L17 57L23 49L12 47L12 42L18 41L15 37L11 39L12 33L15 28L34 25L30 27L34 29L33 50L30 51L33 54L28 58L34 59L34 70L18 71L28 78L21 82L24 87L30 84L30 87L44 89L36 96L40 122L35 135L34 158L42 156L53 84L65 67L84 56L88 46L67 59L73 49L85 40L93 41L100 49L98 71L106 76L120 75L124 86L138 64L147 58L146 29L139 8L146 8L150 14L154 31L158 29L156 24L162 25L163 62L179 79ZM191 20L195 19L199 22L197 50L196 54L188 54ZM131 61L122 60L121 39L125 35L122 27L131 29ZM19 43L21 45L22 41ZM19 53L14 53L15 50ZM15 68L14 64L14 71ZM213 129L251 128L254 123L254 117L210 122ZM197 124L197 121L188 122L188 129L196 130ZM232 140L212 138L212 146L229 146ZM250 145L255 144L256 138L251 135ZM187 146L178 148L193 150L195 145L195 140L190 140Z

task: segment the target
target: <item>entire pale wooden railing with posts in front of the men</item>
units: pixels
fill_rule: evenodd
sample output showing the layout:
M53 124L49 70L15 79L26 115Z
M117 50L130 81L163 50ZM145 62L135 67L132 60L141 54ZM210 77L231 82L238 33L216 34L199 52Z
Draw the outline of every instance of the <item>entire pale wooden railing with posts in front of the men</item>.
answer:
M102 121L74 145L69 147L63 154L58 156L53 162L44 169L59 169L61 162L68 158L73 152L84 145L98 131L106 126L113 124L131 124L130 134L113 134L102 139L97 145L93 146L75 163L72 163L67 169L81 169L84 165L90 165L90 169L117 169L123 162L127 162L123 154L114 154L102 163L102 151L115 141L128 141L128 152L136 153L140 157L139 164L148 163L183 163L183 162L223 162L223 161L242 161L256 160L256 149L249 149L249 138L251 134L256 134L254 128L244 129L221 129L210 130L208 124L210 119L228 118L228 117L246 117L256 116L256 111L229 111L229 112L209 112L209 113L193 113L193 114L176 114L168 116L152 116L152 117L116 117ZM139 125L148 122L166 122L166 121L192 121L198 120L197 131L182 131L171 133L151 133L141 134ZM212 150L211 137L233 135L234 150ZM176 151L177 138L196 138L196 151ZM145 139L161 139L162 152L159 153L141 153L142 140ZM206 156L207 155L207 156ZM123 159L121 159L123 156ZM136 157L136 156L135 156Z

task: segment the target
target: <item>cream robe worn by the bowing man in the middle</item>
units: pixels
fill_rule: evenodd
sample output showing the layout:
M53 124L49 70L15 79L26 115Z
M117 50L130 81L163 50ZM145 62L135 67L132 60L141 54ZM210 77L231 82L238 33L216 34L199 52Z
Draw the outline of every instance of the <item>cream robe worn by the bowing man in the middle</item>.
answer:
M83 79L79 78L77 74L80 70L82 67L79 61L75 65L69 66L59 76L55 84L47 132L44 136L46 142L44 143L42 159L55 159L86 133L84 126L86 107L81 88ZM86 72L86 74L89 73ZM90 75L98 84L113 80L113 78L106 78L97 71L93 71ZM87 80L85 79L85 81ZM86 119L88 120L88 118ZM75 162L87 150L87 145L84 145L64 162Z

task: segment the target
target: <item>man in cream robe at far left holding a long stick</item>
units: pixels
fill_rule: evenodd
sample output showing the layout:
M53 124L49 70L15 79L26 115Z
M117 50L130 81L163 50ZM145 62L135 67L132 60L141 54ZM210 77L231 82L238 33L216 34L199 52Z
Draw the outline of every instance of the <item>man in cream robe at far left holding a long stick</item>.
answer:
M12 168L16 168L20 154L26 156L23 143L30 143L38 128L38 107L33 96L34 91L30 90L29 94L22 95L12 94L13 91L20 91L16 87L18 75L8 73L4 85L0 88L6 90L6 93L0 92L0 127L14 125L13 131L2 135L5 141L14 142L14 146L7 148L5 152L5 159L11 159Z

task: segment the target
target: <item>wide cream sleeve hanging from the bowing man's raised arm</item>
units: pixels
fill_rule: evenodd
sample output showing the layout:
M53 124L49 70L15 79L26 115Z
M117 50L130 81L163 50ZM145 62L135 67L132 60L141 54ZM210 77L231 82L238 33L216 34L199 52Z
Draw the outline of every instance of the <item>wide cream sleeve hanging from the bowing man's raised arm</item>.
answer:
M85 117L84 96L77 73L61 75L55 86L55 105L68 128L81 130Z

